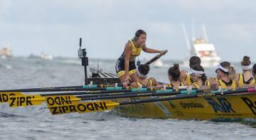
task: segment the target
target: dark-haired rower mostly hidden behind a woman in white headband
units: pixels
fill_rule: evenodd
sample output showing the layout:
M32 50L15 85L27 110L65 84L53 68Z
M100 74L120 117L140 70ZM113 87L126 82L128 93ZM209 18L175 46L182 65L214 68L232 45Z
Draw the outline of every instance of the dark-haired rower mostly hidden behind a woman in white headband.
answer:
M198 56L192 56L189 59L189 67L191 68L193 65L200 65L201 64L201 59ZM186 70L181 70L181 76L179 77L179 79L184 82L186 81L186 83L188 83L188 85L191 85L193 83L193 80L191 78L191 75L188 74L188 71Z

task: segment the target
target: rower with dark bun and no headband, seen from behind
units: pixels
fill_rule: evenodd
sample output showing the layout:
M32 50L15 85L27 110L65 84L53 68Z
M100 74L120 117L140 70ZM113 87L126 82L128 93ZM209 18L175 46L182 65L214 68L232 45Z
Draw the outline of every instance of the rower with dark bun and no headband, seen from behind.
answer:
M166 87L174 87L174 89L178 89L179 86L187 85L186 81L181 82L181 80L179 80L180 75L181 72L179 70L179 65L174 63L174 66L168 70L168 78L170 83L167 84Z

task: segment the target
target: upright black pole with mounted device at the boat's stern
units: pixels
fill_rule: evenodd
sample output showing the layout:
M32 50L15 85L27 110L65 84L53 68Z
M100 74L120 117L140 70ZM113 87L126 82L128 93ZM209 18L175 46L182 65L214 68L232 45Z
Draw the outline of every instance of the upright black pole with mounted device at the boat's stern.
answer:
M85 85L88 85L88 80L87 80L87 65L89 65L88 63L88 57L86 56L86 50L85 48L82 48L82 38L80 38L79 41L79 50L78 50L78 57L82 59L82 66L84 66L85 68Z

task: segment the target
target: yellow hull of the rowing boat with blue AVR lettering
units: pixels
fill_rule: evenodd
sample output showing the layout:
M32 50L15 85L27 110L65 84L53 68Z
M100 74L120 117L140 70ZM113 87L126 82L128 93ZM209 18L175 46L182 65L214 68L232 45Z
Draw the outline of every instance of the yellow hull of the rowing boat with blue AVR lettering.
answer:
M141 97L139 99L143 98ZM124 100L126 99L116 99L115 101L122 102ZM128 104L118 107L115 109L115 111L122 116L140 118L255 118L256 95L240 94L217 97L193 97L188 99L173 99L161 102Z

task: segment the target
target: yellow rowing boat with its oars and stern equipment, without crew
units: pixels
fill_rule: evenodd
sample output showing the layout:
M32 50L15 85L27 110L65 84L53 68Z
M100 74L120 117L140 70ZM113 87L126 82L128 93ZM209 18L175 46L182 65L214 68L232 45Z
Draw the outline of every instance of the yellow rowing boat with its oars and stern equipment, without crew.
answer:
M82 65L85 66L85 83L87 83L87 57L85 49L82 51L79 51L79 56L82 58ZM156 55L147 63L150 64L159 57L161 55ZM1 90L0 103L8 102L9 107L28 107L46 102L52 114L100 112L114 109L114 112L122 116L139 118L234 119L255 118L256 116L256 87L223 91L222 89L210 91L190 88L173 91L171 87L164 89L136 87L134 89L120 87L122 85L117 83L113 84L113 77L111 80L106 80L106 78L108 77L95 77L95 80L99 83L102 81L111 83ZM53 91L56 93L43 93ZM42 93L23 95L22 92Z

